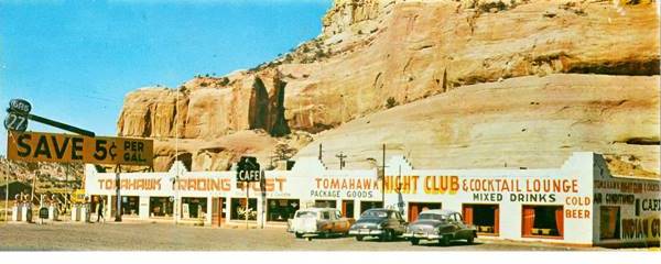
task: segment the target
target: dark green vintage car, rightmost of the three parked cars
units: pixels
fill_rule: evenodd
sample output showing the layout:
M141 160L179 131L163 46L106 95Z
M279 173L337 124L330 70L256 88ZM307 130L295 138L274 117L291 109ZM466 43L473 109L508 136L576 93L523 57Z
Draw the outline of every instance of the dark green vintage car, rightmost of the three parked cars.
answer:
M472 244L477 230L464 223L462 215L452 210L427 210L420 213L418 220L407 228L404 239L416 245L420 240L436 240L448 245L452 240L466 240Z

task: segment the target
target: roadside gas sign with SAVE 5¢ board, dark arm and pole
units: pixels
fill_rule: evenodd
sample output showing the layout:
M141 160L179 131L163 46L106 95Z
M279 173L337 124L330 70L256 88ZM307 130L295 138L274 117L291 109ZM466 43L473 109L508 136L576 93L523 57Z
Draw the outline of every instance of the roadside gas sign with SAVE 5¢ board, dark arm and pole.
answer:
M31 114L31 110L32 105L26 100L12 99L9 102L8 116L4 119L4 128L8 131L8 160L117 165L117 211L115 220L121 221L120 166L153 166L153 141L129 138L95 138L95 133L91 131ZM28 120L74 132L78 135L25 132ZM34 184L32 189L34 190ZM7 200L8 197L6 197L6 205Z

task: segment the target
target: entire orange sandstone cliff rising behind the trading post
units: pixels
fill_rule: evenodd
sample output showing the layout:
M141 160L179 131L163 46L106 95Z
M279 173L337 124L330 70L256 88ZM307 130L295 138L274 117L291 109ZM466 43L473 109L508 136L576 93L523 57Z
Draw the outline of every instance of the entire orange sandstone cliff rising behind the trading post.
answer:
M343 150L355 166L380 143L434 167L559 166L595 151L658 175L655 4L336 1L319 36L273 62L130 92L118 133L154 138L156 170L178 135L201 170L269 161L281 142L307 145L299 155L323 143L327 164Z

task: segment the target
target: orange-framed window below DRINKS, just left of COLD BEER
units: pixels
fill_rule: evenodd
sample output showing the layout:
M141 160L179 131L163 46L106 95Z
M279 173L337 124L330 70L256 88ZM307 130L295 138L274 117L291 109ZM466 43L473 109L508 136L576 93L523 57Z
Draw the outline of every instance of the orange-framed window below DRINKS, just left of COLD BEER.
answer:
M523 237L562 237L564 216L562 206L523 206Z

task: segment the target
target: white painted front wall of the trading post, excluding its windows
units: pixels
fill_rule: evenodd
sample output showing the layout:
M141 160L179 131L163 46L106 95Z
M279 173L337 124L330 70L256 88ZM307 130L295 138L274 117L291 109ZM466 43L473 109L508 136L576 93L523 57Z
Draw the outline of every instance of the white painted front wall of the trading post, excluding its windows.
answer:
M500 208L500 233L498 239L511 239L522 241L548 241L563 242L576 244L592 244L593 241L598 241L598 213L597 206L593 202L593 185L596 174L599 173L598 166L595 164L595 155L590 152L574 153L560 168L548 169L512 169L512 168L495 168L495 169L414 169L409 161L403 156L392 156L386 167L387 183L395 180L402 176L416 176L418 182L414 185L411 182L411 188L415 191L402 194L408 210L408 202L442 202L444 209L453 209L462 211L463 204L499 204ZM602 169L603 170L603 169ZM174 188L173 179L177 178L178 189ZM458 179L458 189L456 193L427 194L425 193L425 179L440 178L443 176L455 176ZM400 179L402 178L400 177ZM600 176L599 176L600 177ZM359 217L360 201L380 201L381 182L378 180L376 169L326 169L324 165L316 158L301 158L292 168L292 170L268 170L266 178L270 186L267 193L267 199L300 199L301 208L307 202L313 202L316 199L332 199L337 201L338 208L342 208L342 200L354 200L355 217ZM235 172L186 172L185 167L180 163L175 164L170 172L166 173L131 173L121 174L122 180L152 180L149 183L158 183L148 185L147 187L133 187L122 189L121 195L140 196L141 197L141 219L144 216L149 217L149 202L147 209L142 209L142 199L149 201L150 196L171 196L176 197L180 201L175 206L181 205L181 197L201 197L207 198L207 217L205 221L210 223L212 220L212 198L223 197L226 199L226 216L225 221L229 222L231 208L231 198L245 198L245 189L237 188ZM477 179L513 179L518 180L517 186L520 190L497 190L497 191L472 191L466 190L465 186L470 185L470 180ZM529 191L525 187L527 183L535 180L554 180L561 179L566 182L575 182L577 186L576 193L572 191ZM219 189L209 189L212 186L205 180L216 180L219 183ZM368 183L368 186L356 183ZM111 186L115 183L113 173L97 173L94 166L86 167L85 187L88 195L108 195L115 194L115 188ZM133 182L136 183L136 182ZM194 183L194 184L189 184ZM353 183L353 184L351 184ZM431 183L431 182L430 182ZM655 182L658 184L658 182ZM354 185L351 187L351 185ZM149 188L154 186L153 188ZM474 194L497 194L502 195L503 200L498 202L485 202L475 200ZM658 197L659 191L652 191L652 195ZM360 194L362 197L357 197ZM258 217L259 222L262 218L262 202L259 186L254 185L249 191L250 198L258 199ZM510 196L518 195L544 195L545 197L554 196L555 201L511 201ZM576 197L582 200L588 200L588 205L567 204L567 198ZM397 206L398 194L387 187L386 207ZM589 218L574 219L564 216L564 238L556 239L530 239L521 238L521 209L523 205L557 205L563 206L565 213L567 210L581 210L588 212ZM176 210L176 209L175 209ZM624 209L625 212L628 209ZM404 212L407 216L408 212ZM180 216L181 217L181 216Z

